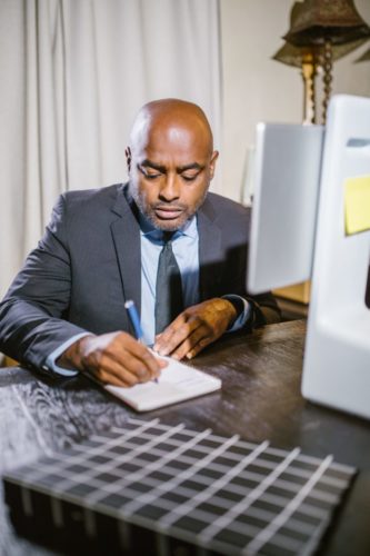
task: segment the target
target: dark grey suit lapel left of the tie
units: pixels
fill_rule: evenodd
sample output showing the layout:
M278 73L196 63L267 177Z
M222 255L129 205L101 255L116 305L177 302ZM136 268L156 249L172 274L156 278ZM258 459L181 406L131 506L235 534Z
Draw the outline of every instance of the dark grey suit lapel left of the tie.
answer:
M122 188L119 189L112 211L118 218L111 232L120 270L124 300L132 299L141 312L141 248L140 228Z

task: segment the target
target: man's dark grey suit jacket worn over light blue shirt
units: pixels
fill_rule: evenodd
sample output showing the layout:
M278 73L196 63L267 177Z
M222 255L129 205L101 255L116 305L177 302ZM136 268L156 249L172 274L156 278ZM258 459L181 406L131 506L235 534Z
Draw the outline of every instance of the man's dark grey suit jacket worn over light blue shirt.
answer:
M209 193L198 212L200 300L244 287L249 212ZM73 335L132 331L124 300L140 309L141 254L136 208L127 186L69 191L58 199L38 247L0 305L0 350L41 367ZM270 294L256 296L254 322Z

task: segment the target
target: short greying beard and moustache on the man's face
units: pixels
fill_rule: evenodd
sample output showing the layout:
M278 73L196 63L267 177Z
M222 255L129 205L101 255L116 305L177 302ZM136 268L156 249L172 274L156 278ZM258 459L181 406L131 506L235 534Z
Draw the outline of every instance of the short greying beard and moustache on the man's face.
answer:
M142 191L139 191L139 188L134 186L131 181L130 181L130 193L137 207L139 208L140 212L156 229L162 231L176 231L182 228L187 224L187 221L190 220L198 211L198 209L203 205L208 193L208 189L206 189L202 196L191 207L178 201L174 202L158 201L156 203L150 205L146 199L146 195ZM176 218L160 218L157 211L161 209L173 210L178 211L179 214Z

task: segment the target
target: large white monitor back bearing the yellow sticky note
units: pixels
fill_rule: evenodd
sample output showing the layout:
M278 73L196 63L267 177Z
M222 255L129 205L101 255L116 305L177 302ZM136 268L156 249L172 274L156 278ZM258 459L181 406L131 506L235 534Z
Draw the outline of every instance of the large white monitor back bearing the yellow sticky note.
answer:
M370 180L370 99L329 105L303 364L307 398L370 418L370 231L346 235L344 181Z

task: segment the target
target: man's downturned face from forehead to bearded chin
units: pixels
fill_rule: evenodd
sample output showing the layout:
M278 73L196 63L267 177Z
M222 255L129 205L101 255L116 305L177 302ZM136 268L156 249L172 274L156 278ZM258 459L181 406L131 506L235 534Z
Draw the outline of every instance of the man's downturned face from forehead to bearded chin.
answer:
M130 191L158 229L181 228L202 205L218 152L187 125L157 126L127 150Z

